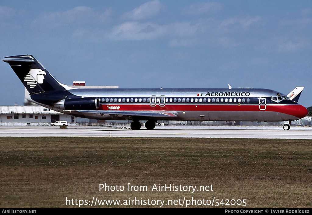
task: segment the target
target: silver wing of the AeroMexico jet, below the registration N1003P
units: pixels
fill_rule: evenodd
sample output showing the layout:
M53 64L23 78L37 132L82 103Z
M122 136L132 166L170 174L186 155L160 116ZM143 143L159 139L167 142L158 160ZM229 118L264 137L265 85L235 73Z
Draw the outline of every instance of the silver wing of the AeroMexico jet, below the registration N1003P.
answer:
M76 113L92 113L92 114L112 114L126 116L146 116L146 117L176 117L176 111L136 111L136 110L64 110Z

